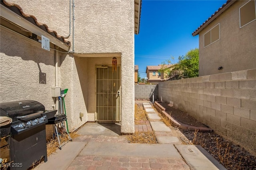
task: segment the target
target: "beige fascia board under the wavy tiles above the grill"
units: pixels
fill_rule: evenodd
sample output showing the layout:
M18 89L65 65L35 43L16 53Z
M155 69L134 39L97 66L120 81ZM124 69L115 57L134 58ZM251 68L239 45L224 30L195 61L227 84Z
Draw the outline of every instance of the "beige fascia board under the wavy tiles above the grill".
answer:
M55 37L53 37L49 33L46 33L44 30L40 29L39 27L37 27L36 25L31 23L30 21L20 17L18 14L16 14L12 10L9 10L5 6L3 6L2 4L1 4L1 7L0 7L0 11L1 11L1 17L5 18L6 20L9 20L9 21L23 27L24 29L38 35L39 37L42 37L42 35L43 35L43 36L49 38L50 42L53 43L54 45L64 49L65 51L69 51L69 49L70 49L69 45L63 43L62 41L60 41L58 39L56 39Z

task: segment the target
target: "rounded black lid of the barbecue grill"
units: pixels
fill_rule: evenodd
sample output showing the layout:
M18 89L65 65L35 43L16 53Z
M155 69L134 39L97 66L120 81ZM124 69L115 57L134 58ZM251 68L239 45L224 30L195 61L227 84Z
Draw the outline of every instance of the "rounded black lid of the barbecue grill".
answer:
M17 116L30 115L38 111L45 112L44 105L34 100L19 100L14 102L0 103L0 115L17 120Z

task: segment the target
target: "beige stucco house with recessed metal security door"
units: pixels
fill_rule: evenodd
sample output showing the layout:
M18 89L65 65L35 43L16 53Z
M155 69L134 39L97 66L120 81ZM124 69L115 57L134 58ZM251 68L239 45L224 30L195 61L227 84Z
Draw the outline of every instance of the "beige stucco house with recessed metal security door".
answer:
M68 88L70 130L122 120L121 132L134 133L140 10L141 0L1 0L0 102L36 100L50 110L58 108L52 87Z

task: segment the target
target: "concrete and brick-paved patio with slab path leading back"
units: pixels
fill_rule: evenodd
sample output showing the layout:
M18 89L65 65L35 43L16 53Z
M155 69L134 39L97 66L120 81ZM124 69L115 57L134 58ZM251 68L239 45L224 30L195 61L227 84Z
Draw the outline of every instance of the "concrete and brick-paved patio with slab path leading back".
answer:
M118 123L86 123L79 137L48 157L37 170L217 170L225 169L202 147L181 145L152 108L143 103L158 144L129 143ZM142 127L143 128L143 127ZM150 128L149 128L150 129ZM143 129L142 129L143 130Z

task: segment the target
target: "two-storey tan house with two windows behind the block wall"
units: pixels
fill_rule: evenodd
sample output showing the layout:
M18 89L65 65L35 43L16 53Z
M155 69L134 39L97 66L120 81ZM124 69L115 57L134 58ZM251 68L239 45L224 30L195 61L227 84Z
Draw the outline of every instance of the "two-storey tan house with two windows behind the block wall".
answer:
M199 34L199 76L256 68L256 1L228 0Z

